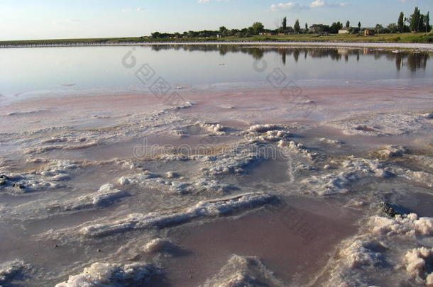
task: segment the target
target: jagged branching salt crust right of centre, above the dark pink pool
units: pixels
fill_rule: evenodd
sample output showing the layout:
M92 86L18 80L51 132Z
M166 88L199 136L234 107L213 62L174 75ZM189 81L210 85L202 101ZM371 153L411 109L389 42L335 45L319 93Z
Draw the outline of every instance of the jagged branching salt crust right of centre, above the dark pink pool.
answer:
M369 159L349 159L341 165L343 170L338 169L331 174L311 176L301 182L314 186L314 193L325 196L333 193L347 193L354 181L366 176L386 178L391 175L389 171L383 169L380 162Z

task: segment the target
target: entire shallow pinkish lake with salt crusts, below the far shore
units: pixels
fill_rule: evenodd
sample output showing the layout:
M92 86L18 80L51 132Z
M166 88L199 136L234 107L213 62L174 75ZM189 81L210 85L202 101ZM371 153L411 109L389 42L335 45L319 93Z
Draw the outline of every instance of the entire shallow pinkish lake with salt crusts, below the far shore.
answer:
M1 286L433 286L431 54L128 49L0 51Z

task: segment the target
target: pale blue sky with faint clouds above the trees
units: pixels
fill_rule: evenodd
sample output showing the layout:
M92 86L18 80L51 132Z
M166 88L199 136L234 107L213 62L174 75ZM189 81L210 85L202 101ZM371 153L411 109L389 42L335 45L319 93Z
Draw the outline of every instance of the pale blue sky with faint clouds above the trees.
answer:
M375 26L395 23L415 6L433 13L433 0L0 0L0 40L137 36L256 21L275 28L284 16L290 26L296 18L302 26L347 20Z

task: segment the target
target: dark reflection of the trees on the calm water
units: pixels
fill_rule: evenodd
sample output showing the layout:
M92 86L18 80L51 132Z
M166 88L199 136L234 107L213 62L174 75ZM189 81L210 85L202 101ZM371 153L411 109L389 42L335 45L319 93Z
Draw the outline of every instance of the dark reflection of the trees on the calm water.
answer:
M152 50L185 50L185 51L200 51L200 52L215 52L219 51L220 55L227 53L242 52L251 55L255 60L261 60L265 53L278 53L283 64L287 62L287 56L292 56L295 62L299 61L300 55L304 53L304 59L324 58L328 57L331 60L339 61L344 58L345 62L353 57L357 62L363 57L374 57L375 60L380 60L385 57L386 60L395 61L395 66L400 71L402 67L407 67L411 72L416 72L418 69L426 69L427 62L430 59L428 52L391 52L388 50L372 50L363 49L344 49L344 48L293 48L293 47L251 47L248 45L154 45Z

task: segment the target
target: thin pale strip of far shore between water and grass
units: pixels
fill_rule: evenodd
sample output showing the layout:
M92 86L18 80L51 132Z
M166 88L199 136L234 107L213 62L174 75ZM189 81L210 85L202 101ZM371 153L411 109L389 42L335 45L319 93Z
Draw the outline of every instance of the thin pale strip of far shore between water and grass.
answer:
M429 43L380 43L380 42L130 42L130 43L56 43L56 44L26 44L0 45L0 48L19 47L88 47L88 46L150 46L150 45L248 45L265 47L349 47L349 48L385 48L432 51Z

